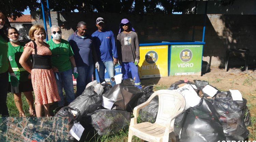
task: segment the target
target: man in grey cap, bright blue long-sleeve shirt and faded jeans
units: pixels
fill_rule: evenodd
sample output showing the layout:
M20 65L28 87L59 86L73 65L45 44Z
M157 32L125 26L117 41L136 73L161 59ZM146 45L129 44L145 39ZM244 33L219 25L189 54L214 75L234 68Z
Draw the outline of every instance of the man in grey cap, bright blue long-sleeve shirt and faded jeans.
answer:
M99 17L96 20L98 28L91 36L96 47L100 69L98 70L100 83L105 82L105 69L109 73L111 85L115 84L115 65L118 62L115 37L112 31L105 29L104 19ZM114 57L114 59L113 59Z

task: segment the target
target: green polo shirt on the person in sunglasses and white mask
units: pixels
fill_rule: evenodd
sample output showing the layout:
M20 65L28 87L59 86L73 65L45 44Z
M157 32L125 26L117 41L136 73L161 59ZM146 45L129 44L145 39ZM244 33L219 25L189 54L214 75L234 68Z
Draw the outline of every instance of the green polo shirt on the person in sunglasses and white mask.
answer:
M60 43L54 43L53 39L47 41L52 51L51 63L59 71L67 71L71 69L69 57L74 55L74 52L67 40L61 39Z

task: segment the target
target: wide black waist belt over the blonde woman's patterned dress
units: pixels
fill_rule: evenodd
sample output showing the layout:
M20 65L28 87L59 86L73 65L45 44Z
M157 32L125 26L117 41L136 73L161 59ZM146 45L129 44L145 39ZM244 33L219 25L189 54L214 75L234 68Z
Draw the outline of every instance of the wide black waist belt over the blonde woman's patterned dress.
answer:
M51 69L51 55L35 55L33 57L32 69Z

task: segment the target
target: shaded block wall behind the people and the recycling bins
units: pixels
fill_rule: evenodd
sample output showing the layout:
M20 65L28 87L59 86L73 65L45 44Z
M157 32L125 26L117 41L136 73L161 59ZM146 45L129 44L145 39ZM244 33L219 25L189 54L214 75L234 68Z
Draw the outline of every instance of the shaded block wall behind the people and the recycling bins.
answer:
M51 12L52 25L62 28L62 38L68 39L76 30L79 21L88 24L88 33L97 30L97 17L103 17L106 25L118 34L121 19L127 18L133 24L140 43L161 41L189 41L192 39L195 21L195 41L202 41L204 15L166 15L166 14L126 14L126 13L56 13ZM40 12L31 12L32 24L42 24ZM203 60L211 66L225 65L226 50L229 48L250 49L250 64L255 64L255 27L256 15L218 15L208 14L206 21ZM48 37L50 29L47 23ZM243 55L237 54L238 59L230 60L229 65L244 66ZM240 58L241 57L241 58ZM250 68L250 66L249 66Z

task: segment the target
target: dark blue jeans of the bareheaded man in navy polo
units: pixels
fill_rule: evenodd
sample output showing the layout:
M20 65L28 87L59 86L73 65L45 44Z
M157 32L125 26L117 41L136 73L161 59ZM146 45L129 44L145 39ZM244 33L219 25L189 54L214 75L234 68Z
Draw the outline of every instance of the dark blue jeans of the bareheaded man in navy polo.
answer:
M76 78L76 96L80 96L84 92L86 85L93 81L93 70L93 64L77 67L79 76Z

